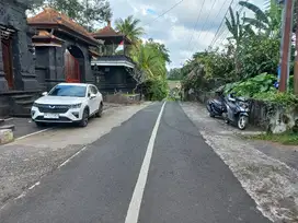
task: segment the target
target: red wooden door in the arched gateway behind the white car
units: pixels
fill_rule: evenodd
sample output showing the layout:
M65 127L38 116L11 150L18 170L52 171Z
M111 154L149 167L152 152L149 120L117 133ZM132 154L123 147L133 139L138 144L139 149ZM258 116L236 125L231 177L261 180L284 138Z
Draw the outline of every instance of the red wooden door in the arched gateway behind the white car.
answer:
M80 83L80 62L68 51L65 52L66 82Z

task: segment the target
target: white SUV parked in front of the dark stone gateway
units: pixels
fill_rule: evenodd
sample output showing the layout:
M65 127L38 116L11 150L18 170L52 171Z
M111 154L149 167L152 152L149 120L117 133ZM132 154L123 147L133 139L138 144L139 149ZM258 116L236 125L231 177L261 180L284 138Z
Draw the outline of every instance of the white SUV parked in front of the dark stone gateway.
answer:
M31 108L32 119L37 126L78 122L85 127L89 117L101 117L103 111L102 94L92 84L60 83L43 95Z

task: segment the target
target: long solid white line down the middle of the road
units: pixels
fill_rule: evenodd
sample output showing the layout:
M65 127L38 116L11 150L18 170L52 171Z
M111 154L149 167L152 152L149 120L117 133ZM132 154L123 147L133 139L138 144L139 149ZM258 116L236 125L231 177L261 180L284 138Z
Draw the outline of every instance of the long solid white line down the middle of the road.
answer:
M163 105L161 107L156 126L152 130L149 143L147 146L146 155L145 155L142 164L141 164L139 177L138 177L137 184L135 186L135 190L134 190L134 193L133 193L133 197L131 197L128 210L127 210L125 223L137 223L138 222L142 195L144 195L144 190L145 190L145 186L146 186L146 181L147 181L147 177L148 177L150 162L151 162L151 157L152 157L152 153L153 153L154 141L157 138L157 132L159 129L160 119L162 117L164 105L165 105L165 102L163 103Z

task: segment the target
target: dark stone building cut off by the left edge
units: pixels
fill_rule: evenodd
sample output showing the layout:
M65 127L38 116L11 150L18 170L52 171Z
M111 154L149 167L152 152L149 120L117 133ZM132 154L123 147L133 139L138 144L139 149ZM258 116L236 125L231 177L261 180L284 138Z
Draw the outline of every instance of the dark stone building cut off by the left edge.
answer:
M27 26L25 0L0 1L0 116L26 107L39 90L35 74L34 32ZM21 110L19 110L21 111ZM22 111L21 111L22 113Z

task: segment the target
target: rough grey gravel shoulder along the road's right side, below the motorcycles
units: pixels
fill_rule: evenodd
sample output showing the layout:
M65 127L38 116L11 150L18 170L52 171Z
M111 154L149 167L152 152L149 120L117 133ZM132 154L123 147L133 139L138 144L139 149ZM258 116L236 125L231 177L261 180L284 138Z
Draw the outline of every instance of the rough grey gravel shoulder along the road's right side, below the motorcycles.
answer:
M261 142L243 140L233 127L209 118L204 105L181 103L181 106L265 216L273 222L298 222L296 168L261 152Z

